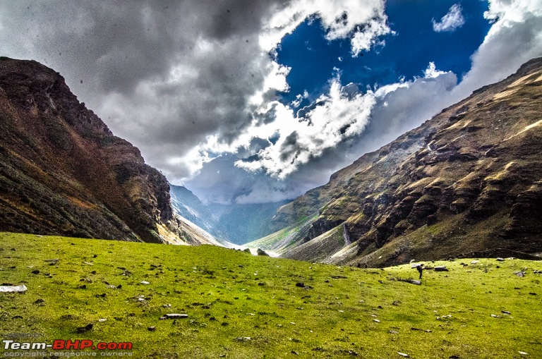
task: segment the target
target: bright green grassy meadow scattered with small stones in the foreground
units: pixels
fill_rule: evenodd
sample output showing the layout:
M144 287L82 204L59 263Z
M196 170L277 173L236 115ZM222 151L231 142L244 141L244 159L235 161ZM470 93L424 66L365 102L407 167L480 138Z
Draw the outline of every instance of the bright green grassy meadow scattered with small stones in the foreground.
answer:
M417 276L409 265L358 269L207 245L0 233L1 281L28 287L0 293L0 334L131 341L135 358L542 358L541 262L427 264L450 272L425 271L416 286L394 280ZM188 318L159 320L166 313Z

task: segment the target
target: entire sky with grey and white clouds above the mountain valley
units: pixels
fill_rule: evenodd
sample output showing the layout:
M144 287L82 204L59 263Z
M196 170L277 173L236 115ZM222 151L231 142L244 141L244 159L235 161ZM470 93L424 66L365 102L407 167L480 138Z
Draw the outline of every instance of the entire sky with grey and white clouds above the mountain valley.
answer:
M3 0L0 56L201 200L276 202L542 56L542 0Z

